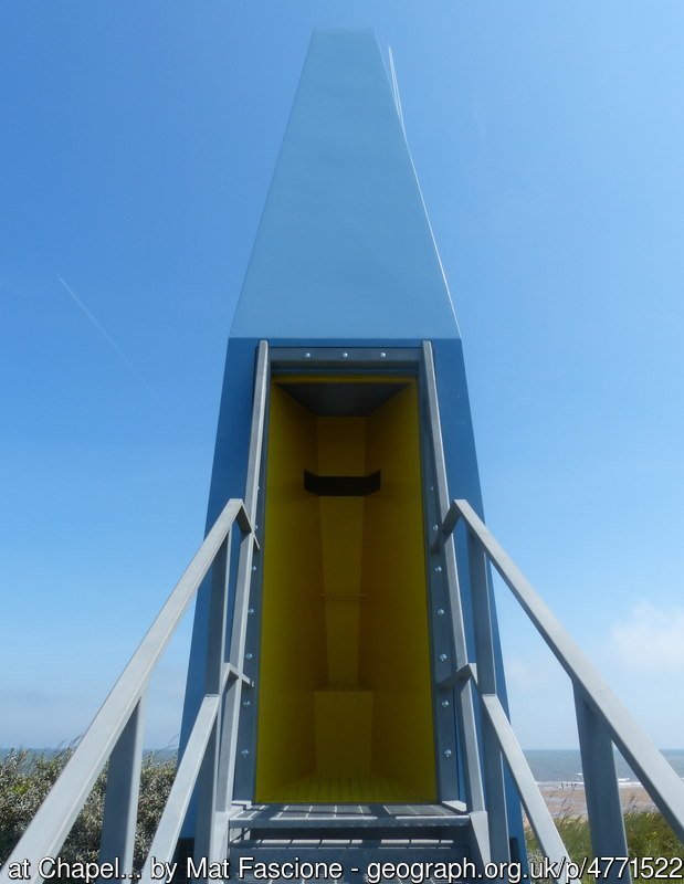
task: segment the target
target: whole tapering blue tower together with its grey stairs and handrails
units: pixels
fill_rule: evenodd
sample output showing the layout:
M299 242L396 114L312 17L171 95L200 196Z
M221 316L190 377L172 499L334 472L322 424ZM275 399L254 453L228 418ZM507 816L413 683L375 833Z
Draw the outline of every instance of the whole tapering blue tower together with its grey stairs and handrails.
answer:
M54 874L105 766L105 877L520 881L523 802L549 877L579 878L508 720L488 564L571 681L592 867L620 884L639 862L615 749L684 839L680 777L482 519L398 108L372 33L314 34L228 344L207 535L0 884ZM196 596L138 873L150 676Z

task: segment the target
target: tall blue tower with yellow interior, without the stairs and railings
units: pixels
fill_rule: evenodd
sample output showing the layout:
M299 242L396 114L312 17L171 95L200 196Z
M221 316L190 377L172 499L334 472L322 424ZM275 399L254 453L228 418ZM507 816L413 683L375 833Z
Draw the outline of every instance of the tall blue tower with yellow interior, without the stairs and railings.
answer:
M207 525L248 487L261 544L234 801L476 814L485 790L507 789L453 678L475 649L472 572L436 532L450 497L481 514L482 499L459 327L398 101L372 32L314 33L230 332ZM210 620L206 587L181 751ZM505 850L519 855L507 792Z

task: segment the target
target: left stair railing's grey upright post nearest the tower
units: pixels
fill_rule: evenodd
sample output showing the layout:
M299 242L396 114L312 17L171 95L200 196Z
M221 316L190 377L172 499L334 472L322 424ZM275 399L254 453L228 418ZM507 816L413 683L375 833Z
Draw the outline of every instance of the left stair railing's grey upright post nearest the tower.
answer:
M228 615L228 587L230 578L232 529L228 533L211 568L211 594L209 600L209 632L207 635L207 665L204 694L220 695L223 686L225 664L225 620ZM221 712L217 715L211 737L198 775L198 804L194 831L196 859L213 856L213 818L217 808L217 775L219 769L219 734Z

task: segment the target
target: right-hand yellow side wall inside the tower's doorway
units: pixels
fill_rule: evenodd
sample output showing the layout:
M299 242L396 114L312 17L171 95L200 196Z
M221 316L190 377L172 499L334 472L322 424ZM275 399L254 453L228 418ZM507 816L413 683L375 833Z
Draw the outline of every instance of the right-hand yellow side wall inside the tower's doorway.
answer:
M375 691L377 770L435 799L434 738L422 481L415 385L368 418L366 472L382 490L366 498L361 677Z

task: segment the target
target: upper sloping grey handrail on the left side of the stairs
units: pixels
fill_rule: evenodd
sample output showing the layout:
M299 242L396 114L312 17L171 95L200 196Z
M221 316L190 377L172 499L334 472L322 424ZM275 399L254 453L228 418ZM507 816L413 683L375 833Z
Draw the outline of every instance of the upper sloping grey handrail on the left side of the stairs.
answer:
M230 499L4 863L0 871L0 884L10 881L8 869L12 862L20 860L30 862L31 875L24 880L40 881L39 860L57 855L124 730L134 717L138 717L136 713L150 676L200 583L227 544L234 523L244 535L251 535L254 539L242 501ZM234 665L228 663L224 664L224 673L225 680L244 678ZM137 783L135 794L137 797Z

